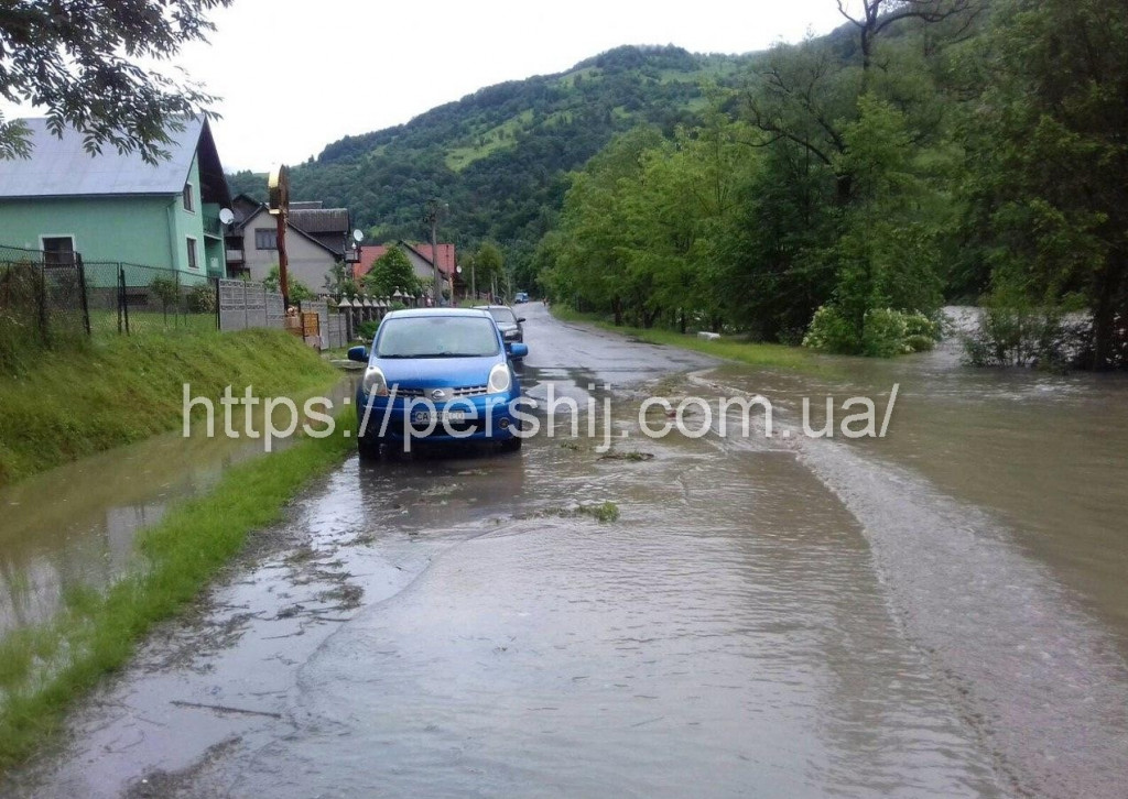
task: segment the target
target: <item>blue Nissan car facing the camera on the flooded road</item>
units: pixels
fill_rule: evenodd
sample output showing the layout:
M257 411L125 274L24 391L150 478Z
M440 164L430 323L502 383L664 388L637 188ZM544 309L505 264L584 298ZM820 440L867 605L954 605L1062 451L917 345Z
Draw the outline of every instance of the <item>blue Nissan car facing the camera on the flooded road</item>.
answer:
M356 389L356 446L378 459L381 444L411 449L413 441L497 442L521 449L518 401L521 383L486 311L421 308L393 311L380 322L372 348L353 347L351 361L367 363Z

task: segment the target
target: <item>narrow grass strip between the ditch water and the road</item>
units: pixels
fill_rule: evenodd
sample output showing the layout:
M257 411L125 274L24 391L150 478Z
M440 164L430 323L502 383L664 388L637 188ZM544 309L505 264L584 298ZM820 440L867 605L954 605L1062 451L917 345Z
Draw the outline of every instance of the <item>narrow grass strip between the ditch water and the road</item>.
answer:
M143 570L105 594L72 592L52 622L6 637L0 642L0 773L58 731L76 699L121 668L155 624L199 595L250 531L277 521L308 480L351 449L352 440L343 435L303 438L232 468L211 494L174 507L141 534Z

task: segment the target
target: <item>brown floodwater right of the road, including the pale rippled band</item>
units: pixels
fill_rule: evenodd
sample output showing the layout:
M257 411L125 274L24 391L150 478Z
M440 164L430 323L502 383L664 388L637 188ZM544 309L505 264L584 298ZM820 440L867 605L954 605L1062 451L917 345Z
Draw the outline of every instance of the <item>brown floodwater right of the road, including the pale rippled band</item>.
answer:
M880 405L897 383L887 438L796 437L791 449L863 525L907 637L1014 789L1118 796L1110 764L1128 762L1128 381L966 369L952 345L849 362L847 374L725 367L700 382L769 394L795 429L801 397Z

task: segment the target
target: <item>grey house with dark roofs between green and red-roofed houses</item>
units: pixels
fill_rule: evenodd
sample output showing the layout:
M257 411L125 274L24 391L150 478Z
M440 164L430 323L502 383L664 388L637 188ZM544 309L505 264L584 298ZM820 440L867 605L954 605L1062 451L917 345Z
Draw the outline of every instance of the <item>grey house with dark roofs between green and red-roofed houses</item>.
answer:
M265 203L240 194L232 202L235 222L227 233L227 263L232 276L261 281L277 266L277 219ZM290 279L324 292L333 267L355 260L347 208L320 202L291 202L285 249Z

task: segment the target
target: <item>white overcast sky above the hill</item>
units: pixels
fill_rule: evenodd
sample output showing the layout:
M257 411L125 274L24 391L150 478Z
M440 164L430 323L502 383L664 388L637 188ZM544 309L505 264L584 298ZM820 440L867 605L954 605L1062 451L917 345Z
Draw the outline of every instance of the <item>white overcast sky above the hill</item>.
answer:
M477 89L622 44L747 53L839 24L835 0L235 0L177 59L222 100L223 166L298 163Z

